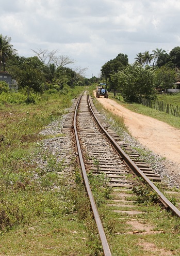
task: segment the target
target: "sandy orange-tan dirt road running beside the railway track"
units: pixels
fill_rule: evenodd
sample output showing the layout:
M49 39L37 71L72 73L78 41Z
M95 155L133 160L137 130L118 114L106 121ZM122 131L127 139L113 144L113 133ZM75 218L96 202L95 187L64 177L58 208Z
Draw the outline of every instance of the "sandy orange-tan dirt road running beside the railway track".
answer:
M106 109L123 116L125 125L142 145L154 153L180 164L180 130L152 117L132 112L109 98L96 99Z

